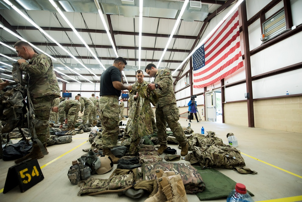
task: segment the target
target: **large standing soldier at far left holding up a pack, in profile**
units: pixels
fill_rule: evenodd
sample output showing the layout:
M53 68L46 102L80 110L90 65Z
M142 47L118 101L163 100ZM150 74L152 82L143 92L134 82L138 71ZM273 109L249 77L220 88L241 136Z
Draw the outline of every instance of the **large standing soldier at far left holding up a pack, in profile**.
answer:
M29 89L31 101L34 106L35 118L43 122L41 127L36 128L38 141L34 141L33 150L25 157L17 159L15 163L20 163L26 159L39 159L44 155L41 152L39 141L46 148L46 142L49 134L49 115L51 103L54 98L60 97L60 88L54 73L54 67L51 59L44 54L35 53L34 49L25 41L18 41L14 45L19 59L19 69L25 72L23 84ZM26 62L26 60L29 60ZM14 85L15 82L5 81L0 84L0 90L5 86Z

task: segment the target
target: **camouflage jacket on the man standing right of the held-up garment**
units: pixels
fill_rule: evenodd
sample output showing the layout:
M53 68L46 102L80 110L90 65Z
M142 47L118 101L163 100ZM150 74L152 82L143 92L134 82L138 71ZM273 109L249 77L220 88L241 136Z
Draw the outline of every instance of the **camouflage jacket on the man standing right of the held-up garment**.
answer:
M171 103L176 104L173 79L169 69L159 69L155 75L154 83L160 86L160 88L155 89L155 91L161 94L161 98L159 98L156 103L156 108Z

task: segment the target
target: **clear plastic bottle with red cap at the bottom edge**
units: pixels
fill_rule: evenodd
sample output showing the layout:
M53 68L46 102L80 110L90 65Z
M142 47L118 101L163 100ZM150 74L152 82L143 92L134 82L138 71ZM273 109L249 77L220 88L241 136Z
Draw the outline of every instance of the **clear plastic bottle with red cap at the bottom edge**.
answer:
M226 199L227 202L255 202L251 195L246 192L244 184L237 183Z

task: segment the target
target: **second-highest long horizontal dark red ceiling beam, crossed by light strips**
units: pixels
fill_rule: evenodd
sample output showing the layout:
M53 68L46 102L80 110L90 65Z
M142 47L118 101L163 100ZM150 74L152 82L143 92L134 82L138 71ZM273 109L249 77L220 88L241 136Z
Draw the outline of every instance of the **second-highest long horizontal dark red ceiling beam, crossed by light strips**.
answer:
M5 41L7 45L14 45L16 42L15 41ZM39 43L39 42L31 42L35 46L58 46L55 43ZM67 47L83 47L85 46L83 44L61 44L62 46L67 46ZM88 45L90 48L112 48L111 45ZM119 46L119 49L129 49L129 50L138 50L138 47L133 47L133 46ZM164 48L141 48L141 50L146 50L146 51L164 51ZM184 50L184 49L170 49L168 48L167 51L169 52L183 52L183 53L189 53L190 50Z

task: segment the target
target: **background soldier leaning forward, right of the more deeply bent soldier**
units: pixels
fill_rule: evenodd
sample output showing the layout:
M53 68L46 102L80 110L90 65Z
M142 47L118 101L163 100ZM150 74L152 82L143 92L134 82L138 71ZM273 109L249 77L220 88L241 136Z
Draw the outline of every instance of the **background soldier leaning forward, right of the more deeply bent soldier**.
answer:
M93 101L89 100L85 97L80 97L79 95L76 95L75 100L80 101L81 103L81 113L83 114L84 108L84 115L82 117L82 123L87 124L88 119L88 126L92 127L92 116L93 116L93 110L94 110L94 104Z

